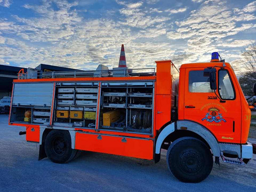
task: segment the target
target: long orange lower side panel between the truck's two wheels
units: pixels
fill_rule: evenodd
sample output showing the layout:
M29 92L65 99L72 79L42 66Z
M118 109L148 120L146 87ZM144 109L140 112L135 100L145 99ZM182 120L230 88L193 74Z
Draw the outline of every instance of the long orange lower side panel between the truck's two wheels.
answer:
M75 148L141 159L153 159L153 140L76 133Z

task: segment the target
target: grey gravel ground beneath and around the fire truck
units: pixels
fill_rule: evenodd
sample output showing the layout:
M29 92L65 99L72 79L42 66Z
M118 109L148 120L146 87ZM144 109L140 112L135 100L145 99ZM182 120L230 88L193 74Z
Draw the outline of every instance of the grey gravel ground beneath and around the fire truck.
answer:
M201 183L178 181L167 169L166 151L152 161L82 152L67 164L37 161L39 145L19 136L0 115L0 191L256 191L256 156L247 165L221 162Z

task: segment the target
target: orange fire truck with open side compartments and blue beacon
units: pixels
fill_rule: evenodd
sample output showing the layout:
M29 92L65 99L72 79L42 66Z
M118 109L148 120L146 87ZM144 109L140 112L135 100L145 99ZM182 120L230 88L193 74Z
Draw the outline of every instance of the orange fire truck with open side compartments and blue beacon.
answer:
M156 61L152 69L20 71L13 81L10 125L26 126L39 143L39 160L71 161L78 151L160 160L170 172L200 182L214 158L242 165L252 158L247 142L250 108L229 63Z

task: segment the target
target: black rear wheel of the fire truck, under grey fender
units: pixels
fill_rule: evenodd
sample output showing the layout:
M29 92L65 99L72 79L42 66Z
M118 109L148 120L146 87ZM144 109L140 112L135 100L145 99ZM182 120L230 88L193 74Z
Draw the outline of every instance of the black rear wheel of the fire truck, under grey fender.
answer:
M77 150L71 148L71 137L68 131L53 130L45 140L47 157L54 163L67 163L71 161Z

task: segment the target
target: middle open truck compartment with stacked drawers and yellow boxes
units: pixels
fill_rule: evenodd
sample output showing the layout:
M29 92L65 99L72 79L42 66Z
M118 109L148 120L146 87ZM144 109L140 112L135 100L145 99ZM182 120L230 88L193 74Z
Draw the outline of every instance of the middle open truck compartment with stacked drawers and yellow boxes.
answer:
M65 127L81 127L81 129L83 127L95 129L97 86L98 82L57 83L53 124ZM68 94L69 92L73 94Z

